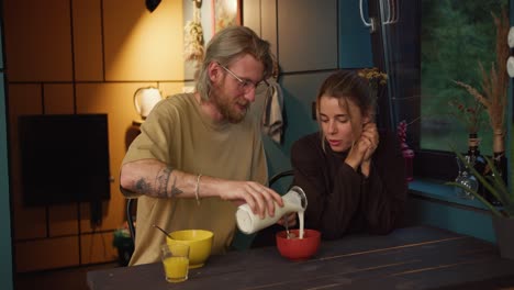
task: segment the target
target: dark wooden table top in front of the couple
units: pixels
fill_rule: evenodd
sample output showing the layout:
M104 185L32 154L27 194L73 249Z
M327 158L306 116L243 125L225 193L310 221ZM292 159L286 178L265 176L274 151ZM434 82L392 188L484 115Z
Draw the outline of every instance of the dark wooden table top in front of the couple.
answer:
M438 228L323 242L310 260L275 247L211 256L189 280L168 283L160 263L90 271L92 290L128 289L514 289L514 260L490 243Z

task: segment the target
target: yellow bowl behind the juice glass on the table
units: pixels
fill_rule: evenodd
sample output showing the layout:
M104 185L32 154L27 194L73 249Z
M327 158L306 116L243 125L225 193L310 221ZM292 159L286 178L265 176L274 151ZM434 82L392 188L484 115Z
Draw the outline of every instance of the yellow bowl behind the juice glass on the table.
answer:
M189 245L189 268L199 268L205 264L211 255L212 238L214 233L204 230L182 230L170 233L166 237L168 245L187 244Z

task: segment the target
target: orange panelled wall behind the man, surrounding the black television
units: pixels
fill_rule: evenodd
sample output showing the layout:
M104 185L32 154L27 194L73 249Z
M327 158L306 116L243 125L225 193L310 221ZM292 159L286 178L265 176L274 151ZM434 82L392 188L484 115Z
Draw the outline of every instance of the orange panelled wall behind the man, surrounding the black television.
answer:
M125 134L139 119L133 94L139 87L157 86L169 96L185 85L182 0L161 1L153 13L144 3L3 1L18 272L116 259L112 232L125 220L119 166ZM113 181L101 226L91 227L89 203L23 205L16 120L40 113L108 113Z

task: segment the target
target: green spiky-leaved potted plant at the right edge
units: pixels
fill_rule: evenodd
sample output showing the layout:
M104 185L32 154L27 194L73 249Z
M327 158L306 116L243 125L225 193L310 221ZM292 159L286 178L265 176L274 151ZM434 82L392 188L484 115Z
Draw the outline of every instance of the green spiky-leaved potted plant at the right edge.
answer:
M514 130L511 131L514 134ZM490 201L484 199L476 190L469 189L466 186L457 182L447 182L447 185L456 186L462 190L471 193L478 200L480 200L485 207L488 207L492 212L492 222L494 232L496 234L496 243L500 248L500 255L504 258L514 259L514 187L507 187L504 179L502 178L496 166L494 166L493 159L490 157L484 157L485 161L492 170L492 175L484 176L478 172L473 166L465 158L462 154L455 150L458 158L462 161L465 166L468 166L468 169L472 175L479 180L479 182L494 197L499 200L502 207L495 207ZM514 142L511 140L510 146L510 178L509 180L514 180Z

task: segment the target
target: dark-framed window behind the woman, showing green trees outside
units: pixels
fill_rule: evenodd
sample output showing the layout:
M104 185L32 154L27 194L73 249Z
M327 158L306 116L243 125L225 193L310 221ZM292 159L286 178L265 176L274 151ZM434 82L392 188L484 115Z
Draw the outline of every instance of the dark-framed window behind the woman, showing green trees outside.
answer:
M388 2L398 5L387 9ZM390 99L379 101L379 126L395 129L405 120L407 143L415 149L414 175L451 180L458 168L450 144L466 152L468 131L450 114L454 108L448 102L472 101L452 80L480 88L479 60L489 70L495 59L495 26L488 11L500 15L501 5L509 8L509 0L371 3L375 11L381 11L377 14L382 20L391 13L398 15L396 22L386 21L372 36L375 63L390 78ZM482 118L480 149L490 155L489 119L485 113Z

